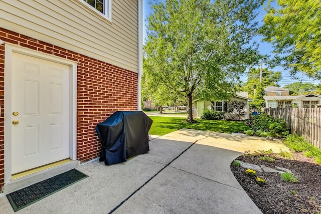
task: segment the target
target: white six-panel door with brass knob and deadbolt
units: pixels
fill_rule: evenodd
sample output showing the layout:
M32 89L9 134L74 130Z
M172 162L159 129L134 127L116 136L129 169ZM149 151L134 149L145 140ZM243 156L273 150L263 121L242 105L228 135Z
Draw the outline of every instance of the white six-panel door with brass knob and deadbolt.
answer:
M69 158L70 67L18 53L12 57L14 174Z

